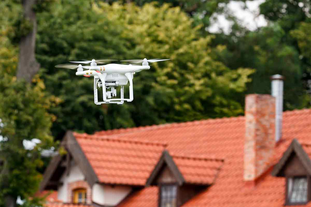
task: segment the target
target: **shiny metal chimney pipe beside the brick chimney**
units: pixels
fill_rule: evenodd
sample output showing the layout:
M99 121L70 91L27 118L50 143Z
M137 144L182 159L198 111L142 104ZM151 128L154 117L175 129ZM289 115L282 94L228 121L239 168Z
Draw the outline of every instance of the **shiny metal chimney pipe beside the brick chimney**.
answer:
M276 98L275 102L275 141L282 137L282 116L283 116L283 76L276 74L270 77L271 95Z

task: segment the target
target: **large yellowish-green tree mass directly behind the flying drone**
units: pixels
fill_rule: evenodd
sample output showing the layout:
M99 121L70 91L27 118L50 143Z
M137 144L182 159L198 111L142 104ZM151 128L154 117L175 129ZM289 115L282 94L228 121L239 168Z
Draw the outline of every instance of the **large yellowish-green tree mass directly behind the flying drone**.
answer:
M193 27L179 7L83 3L63 1L38 16L36 53L45 68L42 77L47 91L62 99L52 112L58 117L56 136L62 137L68 128L92 133L243 113L240 99L253 70L232 71L217 61L211 54L213 37L201 36L201 26ZM85 57L171 61L135 75L132 104L96 106L92 78L53 67Z

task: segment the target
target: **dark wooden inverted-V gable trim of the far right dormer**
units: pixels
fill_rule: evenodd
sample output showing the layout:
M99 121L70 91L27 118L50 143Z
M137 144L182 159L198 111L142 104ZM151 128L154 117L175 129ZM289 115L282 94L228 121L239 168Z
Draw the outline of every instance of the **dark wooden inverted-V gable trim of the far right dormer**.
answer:
M297 139L294 139L290 146L287 148L287 150L284 152L282 158L279 160L279 162L274 166L271 175L276 177L284 177L284 175L281 175L282 169L285 166L285 163L290 158L290 155L292 153L295 153L301 163L304 165L305 169L308 171L309 175L311 175L311 160L309 158L309 155L304 151L300 143Z

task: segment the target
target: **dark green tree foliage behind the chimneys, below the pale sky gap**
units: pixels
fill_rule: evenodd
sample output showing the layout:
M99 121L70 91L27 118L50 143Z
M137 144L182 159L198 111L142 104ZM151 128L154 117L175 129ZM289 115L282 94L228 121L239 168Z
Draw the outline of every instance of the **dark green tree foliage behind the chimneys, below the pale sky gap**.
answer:
M299 53L294 46L283 42L284 34L284 30L278 24L273 24L255 32L247 32L243 36L234 33L229 36L218 36L216 44L226 45L217 54L219 60L228 67L256 69L251 76L253 81L248 84L247 93L269 94L271 90L269 77L273 74L283 75L284 106L285 110L289 110L306 106L304 104L307 102L303 99L307 98L307 94L301 81Z

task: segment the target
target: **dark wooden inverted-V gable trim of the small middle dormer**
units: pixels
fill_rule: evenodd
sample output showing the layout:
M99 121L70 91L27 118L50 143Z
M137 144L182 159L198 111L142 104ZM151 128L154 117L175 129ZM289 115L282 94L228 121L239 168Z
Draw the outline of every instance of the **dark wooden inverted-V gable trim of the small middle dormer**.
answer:
M169 152L167 150L164 150L162 152L162 155L160 157L160 160L156 164L155 168L151 172L149 178L147 179L146 186L150 186L154 183L156 177L159 175L162 167L166 164L168 168L172 171L175 178L177 179L178 184L181 186L185 182L185 179L183 178L183 175L180 173L177 165L174 163L173 158L171 155L169 155Z

